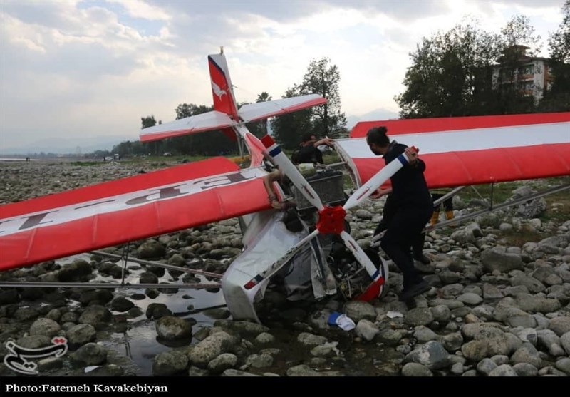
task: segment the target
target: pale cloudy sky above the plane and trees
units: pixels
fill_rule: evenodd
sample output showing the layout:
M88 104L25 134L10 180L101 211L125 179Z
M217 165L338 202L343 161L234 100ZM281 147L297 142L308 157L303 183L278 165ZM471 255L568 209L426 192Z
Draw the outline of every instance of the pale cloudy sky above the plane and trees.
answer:
M138 140L140 118L212 105L220 46L239 103L281 98L311 60L338 67L349 121L395 118L410 53L466 17L485 31L525 15L541 36L564 0L0 1L0 154ZM42 146L43 145L43 146ZM110 148L108 148L110 149Z

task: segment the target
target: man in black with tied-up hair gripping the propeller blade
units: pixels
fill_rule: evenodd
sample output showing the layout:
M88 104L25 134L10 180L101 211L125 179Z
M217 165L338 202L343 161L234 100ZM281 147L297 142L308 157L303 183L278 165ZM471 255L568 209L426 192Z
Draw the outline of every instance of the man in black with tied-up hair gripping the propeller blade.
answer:
M410 159L408 164L390 178L395 209L380 243L380 247L403 273L400 301L408 301L430 289L414 267L412 245L430 220L433 203L423 176L425 163L418 158L418 153L413 148L395 140L390 142L387 132L388 129L384 126L371 128L366 133L366 143L372 153L383 156L386 164L402 153Z

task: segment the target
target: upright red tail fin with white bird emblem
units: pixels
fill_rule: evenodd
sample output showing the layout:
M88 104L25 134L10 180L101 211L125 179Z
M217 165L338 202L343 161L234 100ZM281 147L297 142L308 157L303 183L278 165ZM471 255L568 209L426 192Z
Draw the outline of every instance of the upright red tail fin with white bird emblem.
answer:
M229 70L224 53L209 55L208 67L210 81L212 81L214 110L226 113L234 121L239 122L234 88L232 80L229 78Z

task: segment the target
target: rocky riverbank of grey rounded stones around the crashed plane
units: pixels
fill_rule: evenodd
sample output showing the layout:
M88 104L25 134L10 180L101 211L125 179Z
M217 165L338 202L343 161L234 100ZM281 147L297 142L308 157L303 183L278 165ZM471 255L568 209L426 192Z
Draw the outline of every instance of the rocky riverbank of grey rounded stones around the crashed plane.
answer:
M169 164L0 163L0 202L150 172ZM513 197L544 181L521 182ZM478 209L456 197L456 212ZM348 215L366 247L383 200ZM390 264L390 292L378 301L291 303L268 293L264 325L232 321L219 291L177 288L206 282L160 267L97 255L45 262L0 274L1 281L170 282L164 289L0 289L0 355L6 343L39 348L65 336L63 357L38 359L47 376L568 376L570 374L570 220L546 222L566 202L533 200L431 232L418 264L432 289L407 306ZM517 237L519 237L517 239ZM524 237L524 239L522 239ZM108 252L122 254L124 247ZM223 273L241 249L237 220L133 242L130 255ZM421 266L421 267L420 267ZM340 311L356 323L327 324ZM0 364L0 375L15 375Z

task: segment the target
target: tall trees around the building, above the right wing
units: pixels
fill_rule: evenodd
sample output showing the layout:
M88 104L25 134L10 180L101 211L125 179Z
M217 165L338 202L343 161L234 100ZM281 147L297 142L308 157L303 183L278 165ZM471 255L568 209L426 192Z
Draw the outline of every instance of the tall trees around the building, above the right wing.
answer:
M563 21L549 36L547 71L551 85L522 81L529 58L540 51L540 36L526 16L514 16L500 33L466 20L450 31L423 38L410 53L405 91L395 96L400 118L500 115L570 110L570 0ZM533 65L534 66L534 65ZM522 86L527 84L527 86ZM535 98L529 91L539 91Z

